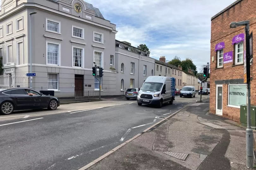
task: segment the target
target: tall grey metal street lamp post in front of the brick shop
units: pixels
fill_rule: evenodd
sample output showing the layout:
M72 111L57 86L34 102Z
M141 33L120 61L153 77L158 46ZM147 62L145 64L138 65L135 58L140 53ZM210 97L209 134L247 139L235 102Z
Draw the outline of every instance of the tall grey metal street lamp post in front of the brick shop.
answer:
M246 34L246 78L247 78L247 128L246 128L246 166L253 168L253 130L251 128L251 74L250 74L250 21L231 22L230 28L245 26Z

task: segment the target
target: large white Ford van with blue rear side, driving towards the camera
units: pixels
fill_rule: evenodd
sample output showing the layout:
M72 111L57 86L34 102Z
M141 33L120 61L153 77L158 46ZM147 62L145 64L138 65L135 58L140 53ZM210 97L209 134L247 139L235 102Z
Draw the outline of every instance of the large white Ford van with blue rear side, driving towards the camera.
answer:
M175 100L175 79L165 76L149 76L143 83L138 96L137 103L154 104L160 108L163 103L173 104Z

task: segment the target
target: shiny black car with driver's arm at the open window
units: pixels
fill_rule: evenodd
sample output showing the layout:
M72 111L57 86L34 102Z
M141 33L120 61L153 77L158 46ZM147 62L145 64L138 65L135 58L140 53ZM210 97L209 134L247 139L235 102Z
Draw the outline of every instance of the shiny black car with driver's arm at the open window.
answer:
M48 108L55 110L59 100L28 88L0 89L0 111L11 114L14 110Z

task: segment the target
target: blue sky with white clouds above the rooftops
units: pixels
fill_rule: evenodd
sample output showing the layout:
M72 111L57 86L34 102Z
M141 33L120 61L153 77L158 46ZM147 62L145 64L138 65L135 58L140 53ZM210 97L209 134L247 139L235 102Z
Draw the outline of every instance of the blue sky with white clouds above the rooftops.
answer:
M86 0L117 25L116 39L146 44L150 57L210 62L211 17L235 0Z

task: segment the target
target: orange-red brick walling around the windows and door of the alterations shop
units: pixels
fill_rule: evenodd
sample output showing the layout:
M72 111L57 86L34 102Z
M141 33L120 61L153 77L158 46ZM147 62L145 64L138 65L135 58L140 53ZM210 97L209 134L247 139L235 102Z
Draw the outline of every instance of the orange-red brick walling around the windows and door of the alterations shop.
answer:
M216 113L216 84L215 80L224 79L243 79L243 65L234 66L234 62L223 64L223 68L216 68L217 55L215 45L222 41L225 42L223 53L233 51L233 60L235 60L235 49L232 45L232 38L240 33L245 34L244 26L230 28L232 21L250 20L250 32L253 32L253 58L256 57L256 1L242 0L235 4L222 14L213 18L211 21L211 56L210 56L210 113ZM246 50L244 41L244 50ZM212 61L214 56L214 61ZM256 58L251 66L251 104L256 105ZM222 85L222 115L229 119L240 121L240 109L229 107L228 105L228 84Z

